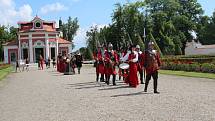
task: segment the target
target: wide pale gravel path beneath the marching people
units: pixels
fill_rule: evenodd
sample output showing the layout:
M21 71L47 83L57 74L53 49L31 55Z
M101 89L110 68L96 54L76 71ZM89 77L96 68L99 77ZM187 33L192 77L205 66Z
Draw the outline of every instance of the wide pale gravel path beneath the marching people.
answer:
M153 94L95 83L94 68L12 73L0 82L0 121L215 121L215 80L160 75Z

